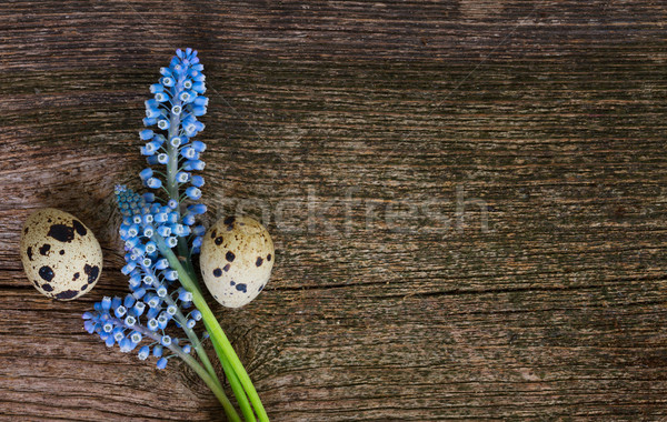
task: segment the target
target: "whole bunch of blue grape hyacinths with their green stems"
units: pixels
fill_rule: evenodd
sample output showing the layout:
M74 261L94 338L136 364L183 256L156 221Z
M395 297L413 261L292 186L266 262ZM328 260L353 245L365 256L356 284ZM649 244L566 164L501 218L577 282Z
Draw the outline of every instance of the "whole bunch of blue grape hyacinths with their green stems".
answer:
M128 277L129 293L103 298L83 313L83 326L107 346L136 353L141 361L167 368L179 358L203 380L218 398L227 418L240 421L203 348L210 339L225 375L247 421L268 421L248 373L209 309L192 265L206 228L198 224L206 205L206 144L196 137L205 129L198 118L206 114L208 99L203 66L197 51L177 50L158 83L150 86L146 101L140 148L149 167L139 172L149 189L139 194L116 187L122 215L120 239L125 247L121 272ZM203 330L199 330L203 325ZM200 333L198 333L197 331ZM198 359L197 359L198 358Z

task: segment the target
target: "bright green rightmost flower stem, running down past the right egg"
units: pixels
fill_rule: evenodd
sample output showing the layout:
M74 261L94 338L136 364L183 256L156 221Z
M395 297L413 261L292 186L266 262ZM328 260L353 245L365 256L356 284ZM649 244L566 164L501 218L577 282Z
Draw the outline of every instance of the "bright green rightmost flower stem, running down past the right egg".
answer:
M208 328L211 340L218 343L220 350L222 351L222 354L227 358L229 364L231 365L231 369L233 370L233 372L239 379L239 382L243 386L243 390L246 390L248 399L250 400L250 403L252 403L252 406L255 408L259 420L261 422L268 422L269 416L266 410L263 409L263 405L261 404L261 399L259 398L255 385L252 385L252 381L250 380L248 372L246 372L243 364L241 363L239 356L236 354L233 346L231 345L229 339L222 331L222 328L218 323L216 315L208 307L208 303L206 303L206 300L203 299L203 295L197 288L196 282L190 278L190 274L183 268L183 265L176 257L173 251L169 247L167 247L167 244L165 243L165 239L162 239L158 234L156 234L153 239L156 240L156 243L158 244L158 248L160 249L162 255L169 261L171 268L178 271L179 281L183 285L183 288L186 288L186 290L192 293L192 303L195 303L195 307L197 307L199 312L201 312L201 316L205 321L205 324Z

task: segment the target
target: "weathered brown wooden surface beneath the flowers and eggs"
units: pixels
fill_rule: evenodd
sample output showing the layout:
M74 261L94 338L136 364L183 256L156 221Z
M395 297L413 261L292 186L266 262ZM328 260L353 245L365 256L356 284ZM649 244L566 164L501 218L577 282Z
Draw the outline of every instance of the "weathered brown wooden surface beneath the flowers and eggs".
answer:
M277 244L266 291L216 308L275 421L667 418L665 2L26 0L0 17L3 419L222 418L187 368L108 350L80 320L127 289L112 187L137 185L148 86L188 46L209 84L209 218L263 214ZM42 207L100 239L81 300L23 277L19 228Z

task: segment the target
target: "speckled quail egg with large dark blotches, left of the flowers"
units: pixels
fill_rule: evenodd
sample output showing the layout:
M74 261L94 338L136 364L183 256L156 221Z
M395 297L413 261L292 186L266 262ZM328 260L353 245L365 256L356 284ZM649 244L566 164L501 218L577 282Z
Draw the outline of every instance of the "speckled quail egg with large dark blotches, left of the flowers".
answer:
M102 249L74 215L53 208L33 212L21 232L21 261L42 294L72 300L90 291L102 271Z

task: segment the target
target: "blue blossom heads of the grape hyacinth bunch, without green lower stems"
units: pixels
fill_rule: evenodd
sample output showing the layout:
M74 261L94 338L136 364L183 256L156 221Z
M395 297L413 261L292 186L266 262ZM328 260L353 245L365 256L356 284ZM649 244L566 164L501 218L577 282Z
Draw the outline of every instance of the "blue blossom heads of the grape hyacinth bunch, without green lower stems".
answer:
M202 70L197 51L177 50L169 67L160 69L159 82L150 87L153 97L146 101L143 124L153 129L139 132L139 139L146 142L140 151L149 167L139 172L139 178L147 188L167 192L168 199L116 187L122 215L119 233L126 251L121 272L129 278L130 293L103 298L83 314L89 333L99 335L108 346L118 344L121 352L136 352L141 360L152 354L158 358L158 369L163 369L170 358L163 355L165 349L190 353L193 346L189 341L192 332L179 339L167 333L169 328L192 330L201 320L198 310L190 310L192 293L179 287L178 272L160 248L185 245L196 254L206 232L202 225L196 225L206 205L195 202L201 198L205 181L193 174L205 167L199 155L206 144L195 139L205 128L197 118L206 113L208 105L202 96ZM197 339L206 338L205 332Z

